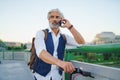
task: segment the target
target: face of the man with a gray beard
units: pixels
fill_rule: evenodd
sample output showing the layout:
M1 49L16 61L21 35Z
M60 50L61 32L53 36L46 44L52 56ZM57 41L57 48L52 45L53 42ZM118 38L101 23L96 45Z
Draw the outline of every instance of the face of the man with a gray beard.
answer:
M51 28L59 28L60 26L60 14L58 12L52 12L49 17L49 25Z

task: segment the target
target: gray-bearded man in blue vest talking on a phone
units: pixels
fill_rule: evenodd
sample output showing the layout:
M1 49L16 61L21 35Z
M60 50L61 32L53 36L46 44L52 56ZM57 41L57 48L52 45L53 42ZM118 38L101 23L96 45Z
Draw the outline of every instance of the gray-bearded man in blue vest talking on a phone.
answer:
M42 30L38 31L35 37L35 49L39 62L37 71L34 73L37 80L62 80L62 68L66 73L72 73L75 69L72 63L63 61L65 45L84 44L84 39L74 26L64 19L63 14L58 9L52 9L48 12L47 40L44 41L45 34ZM61 25L61 22L64 22ZM62 37L60 28L67 28L73 37L65 35Z

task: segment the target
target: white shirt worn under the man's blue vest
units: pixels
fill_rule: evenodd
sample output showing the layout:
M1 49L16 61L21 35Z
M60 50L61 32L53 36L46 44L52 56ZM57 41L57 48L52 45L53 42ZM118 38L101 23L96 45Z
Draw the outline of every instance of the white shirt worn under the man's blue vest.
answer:
M54 34L54 32L51 29L49 29L49 32L51 32L51 34L52 34L52 39L53 39L53 43L54 43L53 56L58 58L57 48L58 48L59 37L60 37L61 32L59 32L57 36ZM37 32L36 37L35 37L35 42L34 42L37 56L40 55L42 50L46 50L44 37L45 37L45 34L42 30ZM73 46L78 46L78 44L76 43L76 41L74 40L73 37L71 37L69 35L65 35L65 37L66 37L67 44L73 45ZM62 76L59 74L59 70L56 65L51 66L51 71L45 77L38 73L34 73L34 76L37 78L37 80L50 80L51 77L52 77L52 80L61 80L61 78L62 78Z

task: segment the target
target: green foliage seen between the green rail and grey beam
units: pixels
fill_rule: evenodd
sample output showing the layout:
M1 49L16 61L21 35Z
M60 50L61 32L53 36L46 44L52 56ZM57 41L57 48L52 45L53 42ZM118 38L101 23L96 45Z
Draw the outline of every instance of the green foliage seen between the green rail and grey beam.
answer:
M74 60L120 67L120 53L69 53L74 54ZM67 56L69 56L69 54Z

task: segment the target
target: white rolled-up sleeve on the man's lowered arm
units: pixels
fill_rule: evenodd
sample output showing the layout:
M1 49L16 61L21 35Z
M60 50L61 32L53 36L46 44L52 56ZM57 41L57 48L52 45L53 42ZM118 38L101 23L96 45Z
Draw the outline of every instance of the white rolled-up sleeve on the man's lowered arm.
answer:
M38 31L35 37L35 49L37 56L39 57L42 50L46 50L45 41L44 41L44 32L42 30Z

